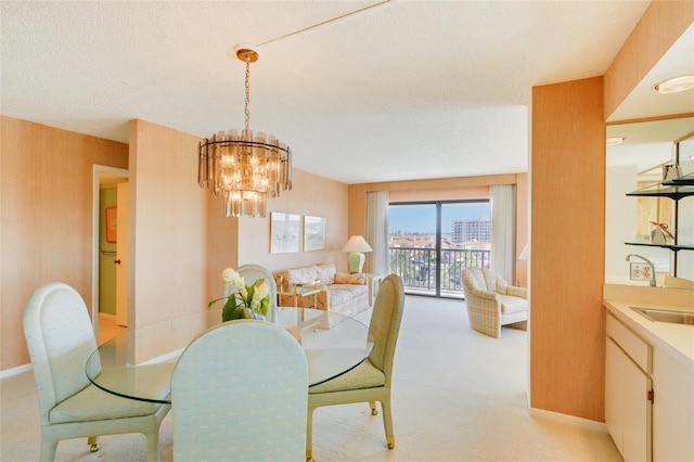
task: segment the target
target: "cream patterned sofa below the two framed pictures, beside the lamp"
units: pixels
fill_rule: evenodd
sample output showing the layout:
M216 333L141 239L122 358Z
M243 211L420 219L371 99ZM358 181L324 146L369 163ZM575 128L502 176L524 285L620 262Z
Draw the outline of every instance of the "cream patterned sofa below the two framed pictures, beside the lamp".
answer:
M294 287L316 284L319 292L296 297L298 307L313 307L354 317L369 308L369 286L363 273L338 272L334 264L313 265L275 272L279 306L294 306Z

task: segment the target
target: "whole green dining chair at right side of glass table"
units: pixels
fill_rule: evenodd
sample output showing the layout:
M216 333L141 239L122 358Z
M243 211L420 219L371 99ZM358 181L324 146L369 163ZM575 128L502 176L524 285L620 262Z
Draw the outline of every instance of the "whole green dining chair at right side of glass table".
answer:
M374 347L363 362L349 372L308 389L308 420L306 431L306 459L312 460L313 411L322 406L369 402L372 415L376 415L375 401L381 402L383 425L388 449L395 448L390 386L395 347L404 310L402 280L388 274L380 284L369 329L374 336Z

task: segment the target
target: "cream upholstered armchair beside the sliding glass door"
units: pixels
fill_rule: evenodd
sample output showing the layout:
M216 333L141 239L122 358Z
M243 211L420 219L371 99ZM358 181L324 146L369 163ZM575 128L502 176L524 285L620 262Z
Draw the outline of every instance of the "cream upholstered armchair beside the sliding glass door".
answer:
M501 326L526 330L527 290L509 285L499 274L485 268L463 270L463 291L470 326L499 338Z

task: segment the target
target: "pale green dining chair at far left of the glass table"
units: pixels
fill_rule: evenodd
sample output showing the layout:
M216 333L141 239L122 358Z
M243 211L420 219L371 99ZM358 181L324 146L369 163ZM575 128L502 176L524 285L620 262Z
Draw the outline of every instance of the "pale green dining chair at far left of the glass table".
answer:
M159 460L159 425L170 409L121 398L91 384L85 363L97 349L87 306L67 284L38 287L24 310L24 335L39 398L41 461L53 461L62 439L89 437L92 452L97 435L142 433L147 460Z

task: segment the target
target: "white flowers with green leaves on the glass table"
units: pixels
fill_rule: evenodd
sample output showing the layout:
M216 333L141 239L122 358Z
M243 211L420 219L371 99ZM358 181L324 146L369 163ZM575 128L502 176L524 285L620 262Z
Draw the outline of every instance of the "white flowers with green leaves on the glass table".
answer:
M224 281L224 294L207 304L211 307L219 300L224 301L221 310L222 322L232 319L265 319L270 308L270 287L265 283L265 279L257 279L253 285L246 285L241 274L231 268L221 272Z

